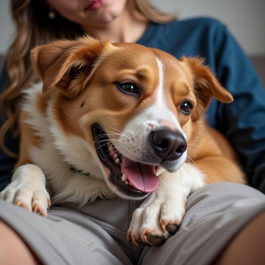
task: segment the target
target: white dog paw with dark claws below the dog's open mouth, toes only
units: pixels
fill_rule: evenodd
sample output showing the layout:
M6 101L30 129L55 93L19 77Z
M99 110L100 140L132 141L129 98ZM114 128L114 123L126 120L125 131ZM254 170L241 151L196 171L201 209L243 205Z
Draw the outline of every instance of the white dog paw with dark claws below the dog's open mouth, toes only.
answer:
M140 206L132 215L127 239L136 245L158 246L173 235L185 214L185 201L166 200Z

